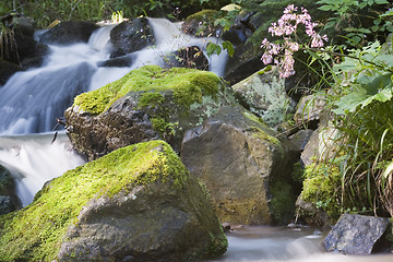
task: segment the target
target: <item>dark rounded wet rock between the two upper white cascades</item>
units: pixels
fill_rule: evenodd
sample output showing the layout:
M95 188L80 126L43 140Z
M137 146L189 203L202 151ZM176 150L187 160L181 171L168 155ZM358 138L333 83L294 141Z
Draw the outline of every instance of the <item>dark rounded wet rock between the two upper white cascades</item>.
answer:
M131 19L115 26L110 32L115 50L111 57L121 57L154 45L154 36L146 17Z

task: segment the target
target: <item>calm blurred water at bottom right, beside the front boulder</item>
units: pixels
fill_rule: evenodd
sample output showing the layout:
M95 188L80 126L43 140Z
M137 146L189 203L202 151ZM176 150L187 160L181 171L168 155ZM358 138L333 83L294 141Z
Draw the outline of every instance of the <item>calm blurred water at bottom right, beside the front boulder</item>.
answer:
M227 234L228 250L214 262L392 262L393 254L344 255L323 250L309 228L245 227ZM213 261L211 261L213 262Z

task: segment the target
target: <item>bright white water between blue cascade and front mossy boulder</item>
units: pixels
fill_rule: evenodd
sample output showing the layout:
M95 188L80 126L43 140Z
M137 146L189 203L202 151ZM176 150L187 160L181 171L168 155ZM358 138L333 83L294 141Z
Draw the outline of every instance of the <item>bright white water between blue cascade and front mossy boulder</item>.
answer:
M60 133L0 136L0 165L15 177L16 193L23 206L46 181L73 169L84 160L76 155L66 136Z

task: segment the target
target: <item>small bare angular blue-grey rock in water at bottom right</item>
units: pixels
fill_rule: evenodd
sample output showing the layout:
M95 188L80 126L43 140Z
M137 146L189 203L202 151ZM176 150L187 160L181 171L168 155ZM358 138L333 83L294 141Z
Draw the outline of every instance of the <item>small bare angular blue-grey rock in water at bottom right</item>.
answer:
M389 218L344 214L324 238L323 246L327 251L344 254L371 254L389 226Z

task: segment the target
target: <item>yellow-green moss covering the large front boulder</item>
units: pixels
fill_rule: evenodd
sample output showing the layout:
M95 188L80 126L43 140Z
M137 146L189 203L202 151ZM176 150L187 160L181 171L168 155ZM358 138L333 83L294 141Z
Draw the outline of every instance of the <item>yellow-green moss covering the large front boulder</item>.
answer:
M157 179L170 179L181 188L187 177L187 168L163 141L130 145L70 170L53 179L31 205L0 216L1 261L51 261L90 200Z

